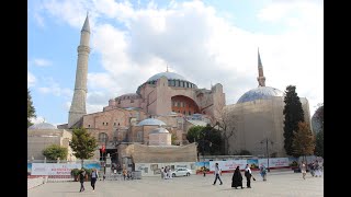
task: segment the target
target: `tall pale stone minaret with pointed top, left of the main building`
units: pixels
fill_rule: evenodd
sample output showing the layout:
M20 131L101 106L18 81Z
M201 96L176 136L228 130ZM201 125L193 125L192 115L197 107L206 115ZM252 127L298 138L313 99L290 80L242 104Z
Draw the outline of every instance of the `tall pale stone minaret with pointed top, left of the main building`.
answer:
M89 39L90 25L87 14L84 25L80 32L80 45L78 46L78 61L76 71L76 84L72 103L69 109L68 128L71 128L80 118L87 114L87 77L88 77L88 58L89 58Z

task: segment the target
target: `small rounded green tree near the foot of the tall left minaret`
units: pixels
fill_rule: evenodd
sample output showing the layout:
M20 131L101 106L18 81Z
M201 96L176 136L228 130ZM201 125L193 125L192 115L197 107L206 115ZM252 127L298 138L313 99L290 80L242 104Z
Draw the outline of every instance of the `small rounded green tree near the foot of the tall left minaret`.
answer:
M81 166L83 166L83 160L94 155L93 152L98 143L97 139L90 136L86 128L73 128L72 140L69 142L69 146L73 150L73 155L81 159Z

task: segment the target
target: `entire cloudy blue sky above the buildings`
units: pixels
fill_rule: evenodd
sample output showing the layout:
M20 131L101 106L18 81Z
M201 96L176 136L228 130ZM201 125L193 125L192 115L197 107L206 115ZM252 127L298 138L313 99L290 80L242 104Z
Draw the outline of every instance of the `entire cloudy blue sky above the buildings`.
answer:
M324 102L319 0L30 0L27 9L34 121L67 123L87 11L88 113L135 92L167 65L199 88L222 83L234 104L258 86L258 47L268 86L296 85L310 114Z

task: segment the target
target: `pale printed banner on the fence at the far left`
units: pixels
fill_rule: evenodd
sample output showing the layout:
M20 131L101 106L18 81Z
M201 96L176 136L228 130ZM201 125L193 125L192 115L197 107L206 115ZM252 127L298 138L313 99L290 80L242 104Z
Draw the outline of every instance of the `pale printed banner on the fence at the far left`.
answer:
M78 163L32 163L32 175L70 175L72 169L81 169Z

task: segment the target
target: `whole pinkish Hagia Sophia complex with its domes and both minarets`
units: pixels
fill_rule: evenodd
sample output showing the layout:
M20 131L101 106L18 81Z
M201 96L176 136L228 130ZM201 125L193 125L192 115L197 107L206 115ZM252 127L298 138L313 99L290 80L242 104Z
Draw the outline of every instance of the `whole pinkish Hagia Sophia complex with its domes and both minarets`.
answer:
M111 99L102 112L87 114L89 39L87 15L78 46L75 92L68 124L57 128L86 128L98 139L99 148L93 158L101 159L104 147L113 162L121 162L124 157L144 163L148 163L147 160L196 161L196 146L189 143L186 131L194 125L214 125L222 111L230 112L236 117L236 135L228 138L226 154L248 150L252 155L264 157L265 142L269 141L271 157L286 157L283 148L284 92L265 86L260 55L259 86L245 93L236 104L226 105L220 83L211 90L200 89L191 80L166 70L150 77L136 88L135 93ZM301 97L301 102L305 119L309 123L308 101ZM160 159L162 157L167 159Z

